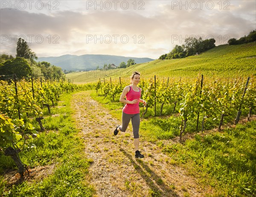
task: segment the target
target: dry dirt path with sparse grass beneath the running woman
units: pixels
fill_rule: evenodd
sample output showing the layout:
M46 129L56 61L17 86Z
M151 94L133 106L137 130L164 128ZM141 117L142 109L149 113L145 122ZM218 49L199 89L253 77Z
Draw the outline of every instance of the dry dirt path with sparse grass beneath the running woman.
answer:
M203 197L212 189L203 188L195 177L170 164L155 144L140 138L143 159L134 158L131 124L126 133L113 135L120 121L94 101L89 92L73 95L77 128L86 148L84 156L93 160L87 181L96 197ZM121 113L121 110L120 110Z

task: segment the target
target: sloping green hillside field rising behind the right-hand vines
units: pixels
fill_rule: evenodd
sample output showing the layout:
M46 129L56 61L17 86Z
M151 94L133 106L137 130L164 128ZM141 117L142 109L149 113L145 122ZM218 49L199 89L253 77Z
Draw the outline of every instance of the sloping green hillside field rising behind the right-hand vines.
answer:
M90 70L68 73L66 79L74 83L96 82L99 78L128 78L138 70L142 77L194 77L204 76L248 77L256 76L256 42L243 45L220 45L209 51L183 59L154 60L115 70Z

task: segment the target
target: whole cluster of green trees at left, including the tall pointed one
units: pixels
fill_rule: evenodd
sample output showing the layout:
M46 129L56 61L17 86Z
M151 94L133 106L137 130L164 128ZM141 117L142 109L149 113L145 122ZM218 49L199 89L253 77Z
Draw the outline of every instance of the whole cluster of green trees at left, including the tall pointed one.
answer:
M47 80L59 80L65 78L61 67L51 65L49 62L35 62L38 59L24 39L19 38L17 41L16 57L8 54L0 54L0 75L16 75L17 78L29 77ZM8 77L10 78L10 77Z

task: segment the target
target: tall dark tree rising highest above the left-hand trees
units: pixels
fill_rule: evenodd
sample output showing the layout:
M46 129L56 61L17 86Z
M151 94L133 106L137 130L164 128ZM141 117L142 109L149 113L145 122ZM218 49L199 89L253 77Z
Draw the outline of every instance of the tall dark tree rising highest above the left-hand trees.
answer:
M16 48L16 57L23 57L25 59L38 59L35 52L32 52L29 45L24 39L19 38Z

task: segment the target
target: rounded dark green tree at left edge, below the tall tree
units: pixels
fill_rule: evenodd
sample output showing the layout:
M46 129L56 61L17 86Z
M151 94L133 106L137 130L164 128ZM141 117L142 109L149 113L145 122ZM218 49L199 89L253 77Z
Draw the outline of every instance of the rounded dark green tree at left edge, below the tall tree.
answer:
M3 75L16 74L18 78L28 77L32 72L26 59L22 57L16 57L14 59L6 60L3 64L0 64L0 73Z

